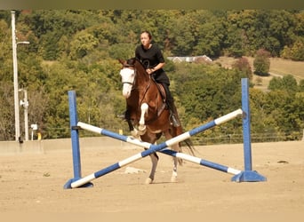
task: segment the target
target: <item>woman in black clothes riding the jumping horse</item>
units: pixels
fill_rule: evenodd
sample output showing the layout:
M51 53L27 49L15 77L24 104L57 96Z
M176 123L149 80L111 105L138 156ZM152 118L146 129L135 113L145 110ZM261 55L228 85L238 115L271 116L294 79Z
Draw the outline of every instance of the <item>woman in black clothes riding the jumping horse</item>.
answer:
M146 71L149 75L152 75L157 83L161 83L164 86L166 93L166 104L170 110L172 123L175 127L180 126L180 122L177 115L177 110L174 105L174 99L169 90L170 81L168 76L164 72L164 56L156 44L152 44L152 36L148 31L144 31L140 34L140 45L135 49L135 57L139 59L141 63L146 67Z

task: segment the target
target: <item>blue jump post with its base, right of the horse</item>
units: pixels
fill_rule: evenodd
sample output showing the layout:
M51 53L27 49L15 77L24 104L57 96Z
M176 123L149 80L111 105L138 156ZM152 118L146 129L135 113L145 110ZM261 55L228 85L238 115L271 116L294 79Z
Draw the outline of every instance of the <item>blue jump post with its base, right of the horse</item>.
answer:
M252 170L252 138L251 118L249 106L248 78L242 78L242 110L243 110L243 144L244 144L244 170L231 178L236 182L260 182L267 178Z

